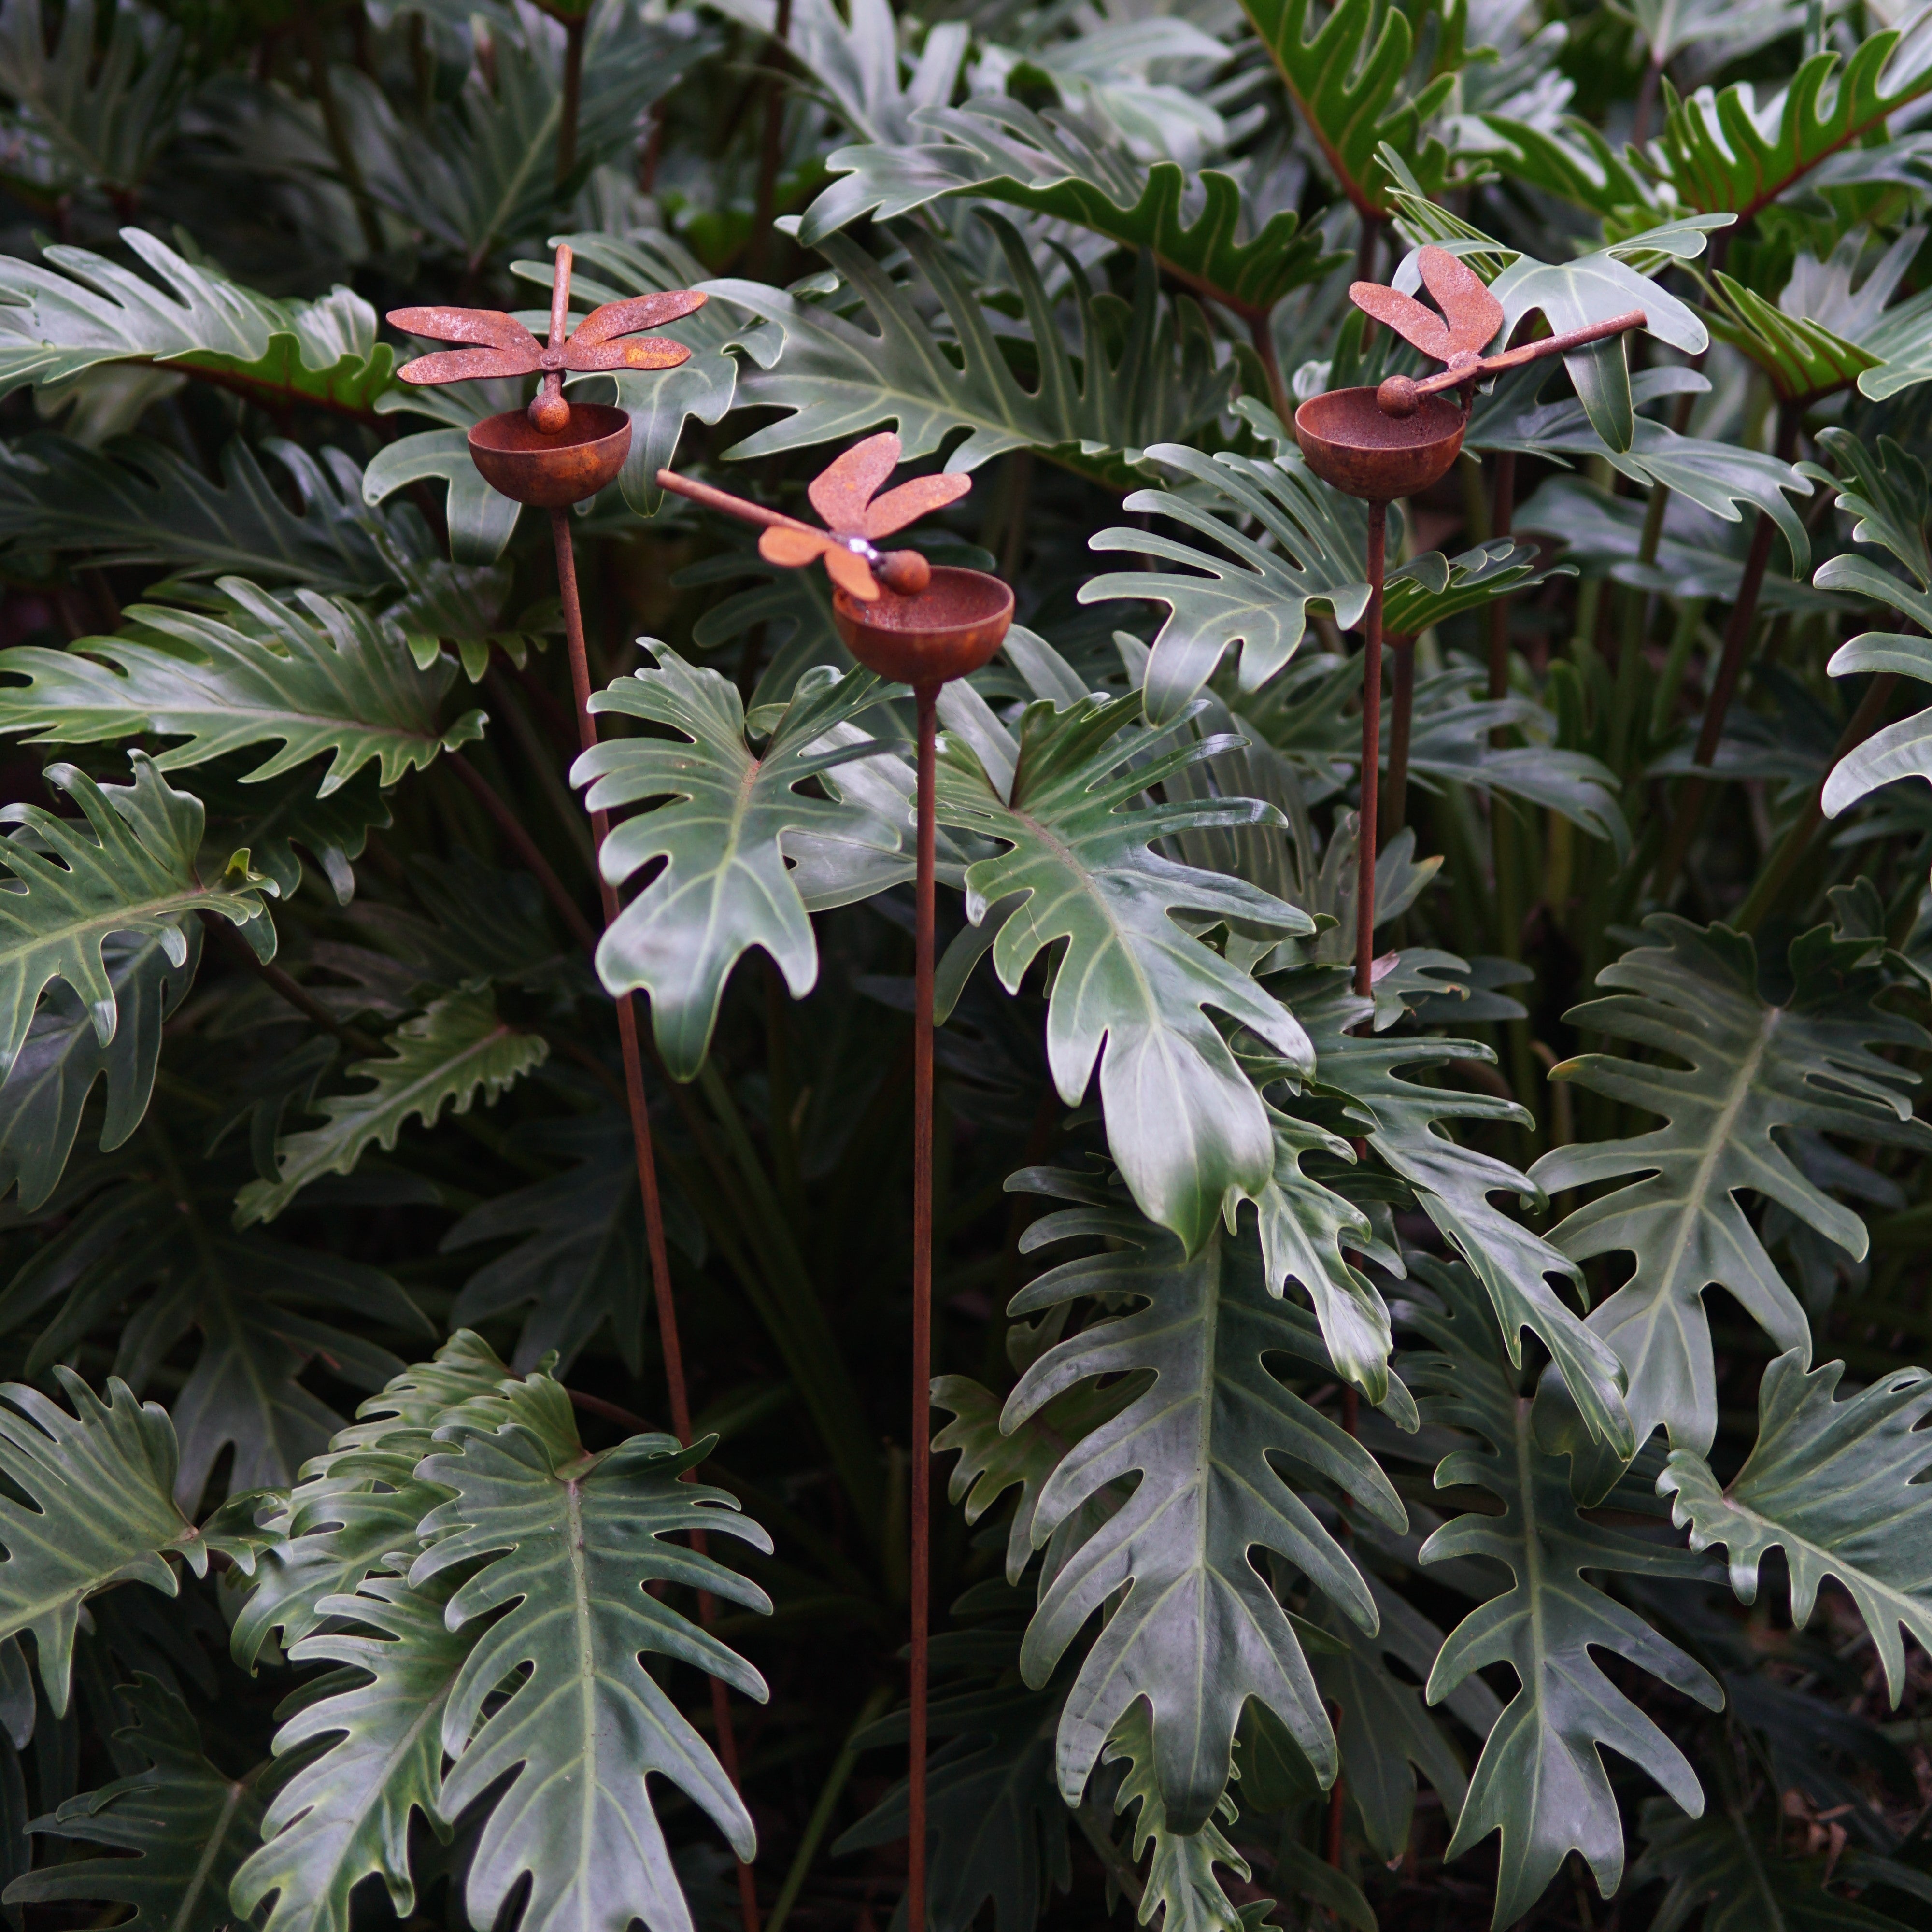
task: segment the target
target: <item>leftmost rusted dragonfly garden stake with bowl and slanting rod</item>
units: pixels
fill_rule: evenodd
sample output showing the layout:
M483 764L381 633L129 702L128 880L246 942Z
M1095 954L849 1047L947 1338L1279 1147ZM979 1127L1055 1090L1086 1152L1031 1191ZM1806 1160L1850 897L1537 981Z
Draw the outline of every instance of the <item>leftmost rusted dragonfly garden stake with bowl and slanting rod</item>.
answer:
M643 336L703 307L694 290L668 290L630 301L607 301L570 330L570 249L556 251L556 278L551 286L551 338L537 338L516 317L500 309L394 309L390 323L435 342L466 342L471 348L419 355L396 373L406 383L468 383L477 377L541 375L543 383L527 410L491 415L469 431L469 458L483 479L504 497L551 512L551 543L556 551L556 587L564 605L564 641L570 653L570 688L578 709L582 750L597 744L591 713L589 659L583 651L583 609L578 601L578 566L570 547L570 506L595 497L616 479L630 454L630 417L609 404L572 404L564 398L564 371L674 369L690 357L682 342ZM628 338L628 340L624 340ZM591 813L591 835L601 848L611 831L605 811ZM605 925L618 916L616 887L599 869L597 889ZM618 1041L624 1053L624 1097L630 1109L632 1146L638 1155L638 1192L643 1198L643 1235L651 1260L651 1294L657 1304L657 1333L665 1349L665 1381L670 1397L670 1426L680 1443L692 1439L692 1403L684 1383L684 1349L678 1339L678 1308L670 1289L670 1254L665 1248L665 1211L657 1192L657 1157L651 1148L651 1115L643 1092L643 1053L638 1039L638 1010L632 995L616 1003ZM692 1548L703 1553L701 1530L692 1532ZM709 1592L697 1596L699 1621L709 1625L715 1604ZM711 1716L717 1725L719 1760L732 1787L738 1785L738 1735L723 1679L711 1683ZM757 1932L757 1888L752 1866L738 1866L738 1903L746 1932Z

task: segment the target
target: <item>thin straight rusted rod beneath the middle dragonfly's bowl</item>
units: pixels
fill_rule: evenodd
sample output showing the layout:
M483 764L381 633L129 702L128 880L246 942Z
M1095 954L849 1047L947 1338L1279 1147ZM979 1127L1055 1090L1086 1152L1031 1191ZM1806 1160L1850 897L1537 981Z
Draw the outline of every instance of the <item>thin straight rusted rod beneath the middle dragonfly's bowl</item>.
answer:
M925 1652L931 1586L933 1403L933 842L939 686L920 709L920 860L912 968L912 1762L908 1766L906 1926L925 1932Z

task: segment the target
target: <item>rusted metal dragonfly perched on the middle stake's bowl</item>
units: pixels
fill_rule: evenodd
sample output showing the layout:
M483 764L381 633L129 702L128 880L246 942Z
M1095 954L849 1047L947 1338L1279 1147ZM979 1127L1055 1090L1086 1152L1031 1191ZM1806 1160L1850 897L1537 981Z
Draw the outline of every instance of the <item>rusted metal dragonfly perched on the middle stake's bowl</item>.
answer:
M746 502L744 497L732 497L730 491L713 489L709 483L694 483L672 469L659 469L657 481L709 510L763 524L765 535L757 539L757 551L767 562L796 570L823 558L825 574L840 593L860 603L875 603L881 585L900 597L918 597L931 578L931 564L918 551L881 551L877 539L891 537L893 531L949 502L958 502L972 489L972 477L914 477L881 497L879 485L896 468L898 437L891 431L854 442L827 464L806 489L811 508L825 518L825 529L767 510L763 504Z

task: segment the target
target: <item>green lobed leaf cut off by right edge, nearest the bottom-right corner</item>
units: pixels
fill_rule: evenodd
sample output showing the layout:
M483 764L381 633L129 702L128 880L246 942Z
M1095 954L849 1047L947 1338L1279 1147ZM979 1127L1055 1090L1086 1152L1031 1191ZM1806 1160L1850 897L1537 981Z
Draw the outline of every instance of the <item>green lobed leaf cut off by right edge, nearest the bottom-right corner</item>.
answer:
M1897 1704L1905 1690L1899 1629L1932 1648L1932 1488L1922 1435L1932 1376L1901 1368L1833 1401L1843 1362L1806 1372L1804 1349L1777 1356L1758 1385L1758 1439L1729 1486L1694 1449L1675 1449L1658 1493L1690 1524L1690 1548L1723 1544L1731 1588L1756 1602L1758 1565L1785 1553L1791 1623L1804 1629L1818 1584L1835 1578L1870 1633Z

